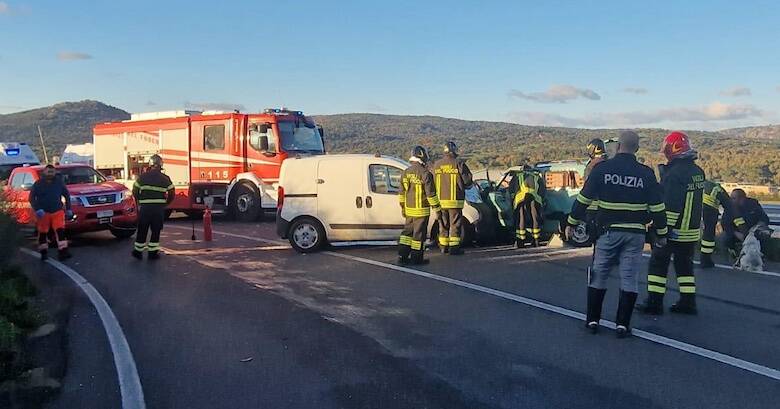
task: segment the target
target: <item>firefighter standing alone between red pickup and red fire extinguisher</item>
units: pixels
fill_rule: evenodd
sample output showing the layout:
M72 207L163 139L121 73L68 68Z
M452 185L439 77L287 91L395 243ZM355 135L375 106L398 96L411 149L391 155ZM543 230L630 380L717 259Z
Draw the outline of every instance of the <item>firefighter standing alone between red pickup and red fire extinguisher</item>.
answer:
M141 174L133 184L133 197L138 203L138 231L133 243L133 257L143 259L144 250L150 260L160 258L160 232L165 221L165 208L175 197L171 178L162 173L163 161L160 155L149 158L149 170ZM149 229L152 237L147 243Z

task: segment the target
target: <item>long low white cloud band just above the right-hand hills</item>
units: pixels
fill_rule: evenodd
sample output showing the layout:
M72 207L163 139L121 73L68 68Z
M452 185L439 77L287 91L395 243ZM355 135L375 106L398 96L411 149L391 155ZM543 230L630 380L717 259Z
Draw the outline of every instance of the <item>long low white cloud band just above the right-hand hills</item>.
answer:
M606 127L640 126L663 122L706 123L762 117L766 113L753 105L729 105L713 102L703 107L666 108L655 111L596 113L587 117L568 117L545 112L513 112L513 121L529 125Z

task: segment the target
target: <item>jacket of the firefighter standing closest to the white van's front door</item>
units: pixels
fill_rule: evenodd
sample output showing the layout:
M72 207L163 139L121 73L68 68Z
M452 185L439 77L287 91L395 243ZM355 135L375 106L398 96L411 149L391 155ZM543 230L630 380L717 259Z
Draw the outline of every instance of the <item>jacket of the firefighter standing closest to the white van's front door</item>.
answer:
M439 197L433 175L419 162L412 162L401 174L401 191L398 199L406 217L424 217L431 214L431 207L439 207Z

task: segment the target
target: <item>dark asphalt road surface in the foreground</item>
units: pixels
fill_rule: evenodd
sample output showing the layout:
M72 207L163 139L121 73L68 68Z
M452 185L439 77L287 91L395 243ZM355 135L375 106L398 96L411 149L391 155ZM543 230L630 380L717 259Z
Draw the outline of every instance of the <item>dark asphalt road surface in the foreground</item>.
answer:
M404 270L383 264L392 247L300 255L277 243L272 223L217 221L211 243L192 242L188 226L166 227L157 262L95 234L75 240L67 263L114 310L149 408L744 409L780 399L766 373L610 330L593 336L523 301L583 312L587 250L429 253L430 265ZM776 373L780 275L708 270L697 288L698 316L635 316L635 327ZM613 279L606 319L616 304Z

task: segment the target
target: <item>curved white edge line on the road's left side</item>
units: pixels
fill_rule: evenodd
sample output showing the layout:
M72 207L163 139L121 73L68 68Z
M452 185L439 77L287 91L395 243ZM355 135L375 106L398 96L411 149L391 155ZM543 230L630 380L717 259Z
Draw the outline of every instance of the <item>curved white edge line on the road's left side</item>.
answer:
M29 256L38 257L38 253L30 249L23 248L21 251ZM130 352L130 345L127 343L125 333L122 331L122 327L119 325L114 312L111 311L111 307L108 306L106 300L95 287L81 274L59 261L50 259L47 263L73 280L81 288L81 291L86 294L92 305L95 306L100 321L103 322L103 328L106 330L111 352L114 355L114 365L119 378L119 391L122 395L122 408L145 409L144 391L141 387L141 379L138 377L133 353Z

